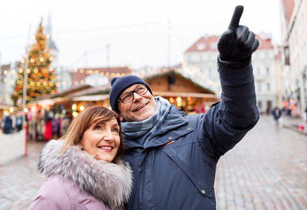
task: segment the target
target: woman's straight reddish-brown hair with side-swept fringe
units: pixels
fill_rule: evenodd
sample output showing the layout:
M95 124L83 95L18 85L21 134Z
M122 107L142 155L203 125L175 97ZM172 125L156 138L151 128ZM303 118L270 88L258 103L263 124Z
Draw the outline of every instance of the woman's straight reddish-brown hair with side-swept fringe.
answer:
M119 159L122 158L122 155L125 151L125 145L122 137L122 130L120 125L119 114L116 112L107 109L106 107L100 106L91 106L86 108L84 111L81 111L80 114L76 116L70 123L68 127L68 132L66 135L60 139L64 139L64 144L62 147L61 155L71 146L80 145L82 135L86 129L91 127L93 124L99 124L116 118L117 123L119 124L119 137L120 144L116 156L112 160L113 163L118 163Z

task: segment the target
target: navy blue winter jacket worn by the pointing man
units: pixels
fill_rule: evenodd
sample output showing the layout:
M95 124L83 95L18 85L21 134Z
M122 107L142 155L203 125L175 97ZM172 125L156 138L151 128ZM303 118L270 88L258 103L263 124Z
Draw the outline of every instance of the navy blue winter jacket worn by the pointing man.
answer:
M218 68L222 102L191 115L172 105L145 148L125 140L125 159L134 171L127 210L216 209L216 164L259 118L251 63Z

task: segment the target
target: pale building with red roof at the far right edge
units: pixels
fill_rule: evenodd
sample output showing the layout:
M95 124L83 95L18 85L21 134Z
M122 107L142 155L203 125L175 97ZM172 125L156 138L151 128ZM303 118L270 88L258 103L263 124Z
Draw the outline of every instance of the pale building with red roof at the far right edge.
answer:
M280 5L284 108L301 117L307 104L307 1L280 0Z

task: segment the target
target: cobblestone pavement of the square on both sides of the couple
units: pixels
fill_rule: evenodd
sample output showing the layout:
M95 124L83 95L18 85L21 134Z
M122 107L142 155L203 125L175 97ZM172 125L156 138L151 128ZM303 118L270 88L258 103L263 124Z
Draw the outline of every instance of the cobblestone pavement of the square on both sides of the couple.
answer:
M300 118L276 125L261 115L255 128L222 156L216 169L218 210L306 210L307 135ZM306 126L305 126L306 127ZM0 210L24 210L44 181L37 171L45 142L28 143L28 156L0 167Z

